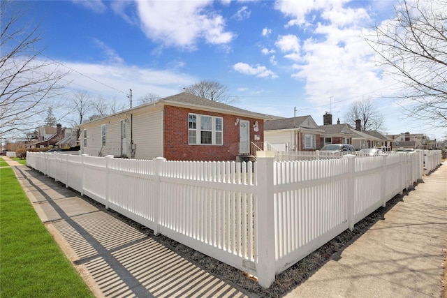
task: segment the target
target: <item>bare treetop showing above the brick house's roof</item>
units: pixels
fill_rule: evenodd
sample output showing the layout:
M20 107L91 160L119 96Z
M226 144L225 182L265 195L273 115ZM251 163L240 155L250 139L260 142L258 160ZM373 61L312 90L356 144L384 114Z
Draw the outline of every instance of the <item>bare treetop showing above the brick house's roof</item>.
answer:
M185 87L184 91L189 94L219 101L220 103L228 104L237 100L237 98L228 96L228 87L217 81L202 80L196 84L192 84L189 87Z

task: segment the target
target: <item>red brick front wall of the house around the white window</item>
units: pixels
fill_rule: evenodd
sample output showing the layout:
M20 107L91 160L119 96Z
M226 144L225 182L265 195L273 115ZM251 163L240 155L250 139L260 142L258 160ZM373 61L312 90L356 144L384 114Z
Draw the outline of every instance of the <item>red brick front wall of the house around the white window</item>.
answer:
M189 145L188 114L203 114L223 118L223 145ZM251 142L264 141L264 121L239 117L250 121ZM239 153L239 124L235 125L237 116L185 109L165 105L163 112L163 157L170 161L235 161ZM258 121L258 132L253 131L253 124ZM261 140L254 141L254 135Z

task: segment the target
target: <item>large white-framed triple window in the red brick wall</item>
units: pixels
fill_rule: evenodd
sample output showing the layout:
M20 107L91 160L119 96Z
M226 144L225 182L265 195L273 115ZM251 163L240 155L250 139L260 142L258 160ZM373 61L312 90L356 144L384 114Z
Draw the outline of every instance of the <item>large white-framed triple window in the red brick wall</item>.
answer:
M223 119L200 114L188 114L189 144L223 144Z

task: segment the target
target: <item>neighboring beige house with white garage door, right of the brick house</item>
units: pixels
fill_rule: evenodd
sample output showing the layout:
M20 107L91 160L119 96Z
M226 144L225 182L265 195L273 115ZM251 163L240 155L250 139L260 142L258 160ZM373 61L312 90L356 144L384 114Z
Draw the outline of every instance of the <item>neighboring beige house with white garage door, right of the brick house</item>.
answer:
M265 121L264 140L277 151L314 151L320 148L323 131L311 116Z

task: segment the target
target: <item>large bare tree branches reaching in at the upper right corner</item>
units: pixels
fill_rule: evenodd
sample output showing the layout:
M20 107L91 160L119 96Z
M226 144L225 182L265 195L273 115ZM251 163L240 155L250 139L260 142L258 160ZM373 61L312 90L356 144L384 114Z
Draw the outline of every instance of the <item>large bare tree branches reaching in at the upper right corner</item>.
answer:
M404 84L406 114L447 126L447 2L402 0L395 19L376 26L367 42L388 74Z

